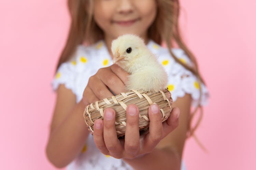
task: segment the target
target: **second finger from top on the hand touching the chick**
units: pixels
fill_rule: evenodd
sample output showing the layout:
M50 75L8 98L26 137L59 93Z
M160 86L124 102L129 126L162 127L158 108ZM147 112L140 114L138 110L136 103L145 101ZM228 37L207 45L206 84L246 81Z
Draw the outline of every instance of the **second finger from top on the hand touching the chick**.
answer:
M108 75L99 74L98 75L100 80L108 86L116 95L120 94L121 92L125 92L125 84L122 80L111 70L108 72Z

